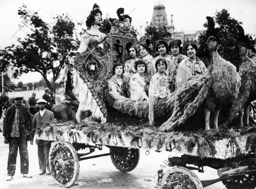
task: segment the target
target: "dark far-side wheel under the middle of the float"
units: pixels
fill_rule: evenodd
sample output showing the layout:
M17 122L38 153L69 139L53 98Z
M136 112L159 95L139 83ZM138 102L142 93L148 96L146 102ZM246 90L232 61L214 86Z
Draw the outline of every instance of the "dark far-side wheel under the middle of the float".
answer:
M135 148L110 147L112 163L121 172L135 169L140 159L140 150Z

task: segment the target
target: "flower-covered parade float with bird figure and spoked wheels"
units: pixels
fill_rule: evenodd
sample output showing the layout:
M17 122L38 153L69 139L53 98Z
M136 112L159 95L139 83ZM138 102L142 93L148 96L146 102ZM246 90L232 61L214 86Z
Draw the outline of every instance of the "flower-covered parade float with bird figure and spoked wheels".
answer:
M256 127L226 123L227 115L232 114L228 107L235 106L239 93L240 77L232 64L218 56L216 41L211 38L208 42L213 51L209 72L187 80L168 98L159 100L154 105L154 125L149 124L149 102L115 100L108 94L113 65L124 64L129 59L126 45L137 43L128 30L112 26L101 47L66 57L73 90L82 99L76 120L47 123L36 130L36 139L53 141L49 162L55 180L72 187L79 161L102 156L110 156L119 171L129 172L137 166L140 150L154 150L183 154L168 158L173 168L166 173L158 171L163 189L185 185L202 189L219 181L228 189L256 187ZM203 106L209 109L205 118ZM85 111L91 116L83 116ZM217 130L222 123L225 127ZM207 124L215 130L204 130ZM88 156L102 146L107 146L109 153ZM78 153L81 149L89 152ZM191 170L204 172L204 166L218 170L220 178L200 181Z

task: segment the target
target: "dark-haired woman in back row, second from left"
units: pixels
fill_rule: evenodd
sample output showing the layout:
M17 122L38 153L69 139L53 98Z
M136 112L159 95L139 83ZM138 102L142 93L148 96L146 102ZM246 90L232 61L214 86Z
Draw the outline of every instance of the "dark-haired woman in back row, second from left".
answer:
M151 62L153 60L153 57L149 54L150 47L152 47L152 44L149 43L149 41L146 40L144 43L140 43L140 56L143 60L146 61L147 64L147 73L150 75L150 68L151 68Z

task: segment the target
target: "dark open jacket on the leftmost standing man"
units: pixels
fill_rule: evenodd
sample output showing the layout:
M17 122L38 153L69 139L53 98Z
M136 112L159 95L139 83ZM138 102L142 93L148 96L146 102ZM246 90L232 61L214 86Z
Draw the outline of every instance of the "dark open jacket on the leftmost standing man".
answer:
M21 106L22 106L21 108L24 112L24 119L25 119L25 123L26 123L26 125L24 125L24 127L26 127L26 130L28 131L28 133L31 134L31 130L32 130L31 113L30 113L28 107L24 106L23 104ZM6 137L7 139L9 139L10 134L11 134L12 122L13 122L14 116L15 116L15 106L13 104L6 110L5 118L3 120L3 125L2 125L3 136Z

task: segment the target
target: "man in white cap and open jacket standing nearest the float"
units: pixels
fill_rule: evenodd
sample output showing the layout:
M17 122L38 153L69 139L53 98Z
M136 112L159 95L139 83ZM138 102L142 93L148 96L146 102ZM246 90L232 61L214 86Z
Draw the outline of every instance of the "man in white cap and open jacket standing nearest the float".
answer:
M39 99L36 102L39 105L39 111L35 114L33 119L33 138L36 132L36 126L41 123L50 123L54 120L54 115L51 111L45 109L45 105L47 104L45 99ZM30 142L33 144L33 140ZM38 161L39 161L39 175L50 175L50 166L49 166L49 151L51 147L51 141L47 140L37 140L36 144L38 146ZM47 171L46 171L47 168Z

